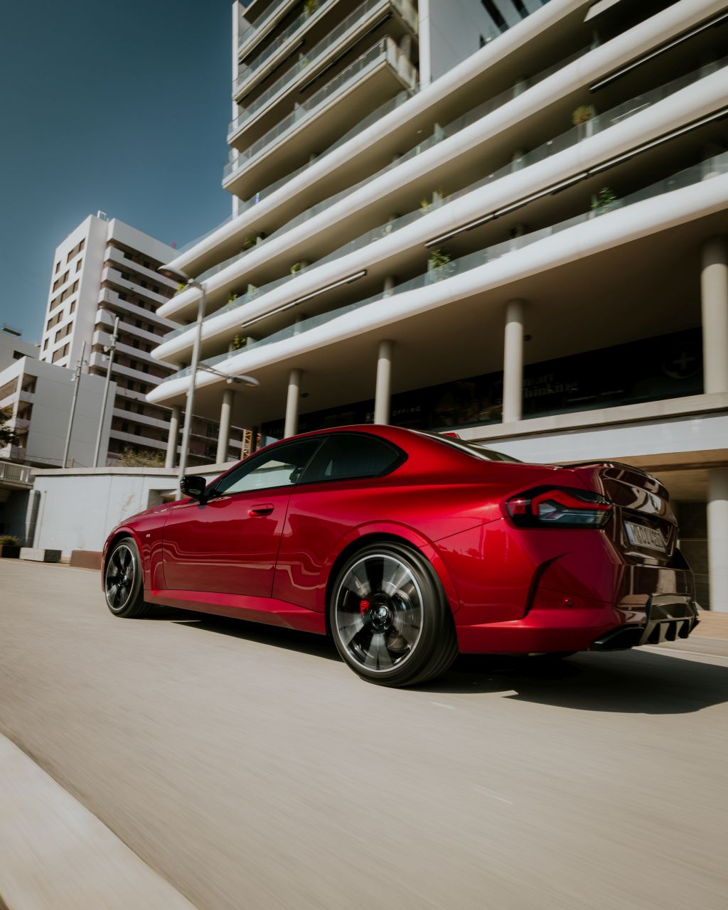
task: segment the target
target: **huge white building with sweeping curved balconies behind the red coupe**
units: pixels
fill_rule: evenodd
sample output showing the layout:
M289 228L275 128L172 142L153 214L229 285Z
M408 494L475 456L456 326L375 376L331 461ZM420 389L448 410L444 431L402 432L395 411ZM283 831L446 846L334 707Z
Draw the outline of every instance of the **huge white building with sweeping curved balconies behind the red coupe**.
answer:
M373 420L640 465L728 610L726 0L232 22L232 214L170 263L207 292L196 409L264 439ZM184 403L197 304L159 308L179 328L152 355L182 369L151 403Z

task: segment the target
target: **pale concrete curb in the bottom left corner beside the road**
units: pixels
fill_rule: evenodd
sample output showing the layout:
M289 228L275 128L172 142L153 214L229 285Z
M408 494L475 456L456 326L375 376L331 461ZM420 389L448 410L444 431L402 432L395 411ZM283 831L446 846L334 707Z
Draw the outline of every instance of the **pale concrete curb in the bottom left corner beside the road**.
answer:
M0 907L195 910L2 735L0 768Z

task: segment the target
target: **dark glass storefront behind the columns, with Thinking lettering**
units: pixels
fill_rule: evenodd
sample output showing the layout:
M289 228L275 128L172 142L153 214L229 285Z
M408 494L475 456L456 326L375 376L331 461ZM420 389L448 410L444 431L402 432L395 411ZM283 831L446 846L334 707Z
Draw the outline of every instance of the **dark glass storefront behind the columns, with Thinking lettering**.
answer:
M523 370L523 417L610 408L703 392L701 329L634 341L533 363ZM502 372L399 392L390 422L416 430L441 430L501 422ZM302 414L298 432L370 423L374 399ZM279 439L283 420L264 425Z

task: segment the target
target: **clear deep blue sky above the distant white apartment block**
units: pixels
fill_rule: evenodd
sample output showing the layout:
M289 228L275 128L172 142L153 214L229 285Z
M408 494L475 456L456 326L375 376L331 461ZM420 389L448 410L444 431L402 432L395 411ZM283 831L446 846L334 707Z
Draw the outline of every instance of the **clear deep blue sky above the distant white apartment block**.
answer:
M0 0L0 323L40 340L89 213L182 246L227 217L230 0Z

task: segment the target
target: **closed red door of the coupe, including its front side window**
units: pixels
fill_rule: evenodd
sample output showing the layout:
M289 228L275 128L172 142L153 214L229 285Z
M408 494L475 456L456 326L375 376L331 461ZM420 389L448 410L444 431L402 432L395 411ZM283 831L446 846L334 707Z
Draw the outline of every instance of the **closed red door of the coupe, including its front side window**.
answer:
M282 442L180 502L164 528L167 591L270 597L288 499L319 438Z

